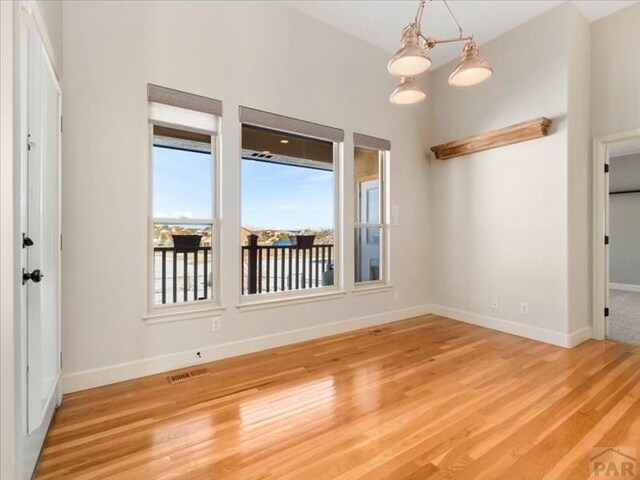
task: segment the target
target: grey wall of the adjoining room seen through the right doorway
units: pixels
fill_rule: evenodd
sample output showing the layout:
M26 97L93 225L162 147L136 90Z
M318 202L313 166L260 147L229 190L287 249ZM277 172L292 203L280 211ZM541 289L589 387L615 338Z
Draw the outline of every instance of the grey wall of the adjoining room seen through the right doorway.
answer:
M640 154L610 159L612 192L640 189ZM610 280L640 288L640 193L609 197Z

